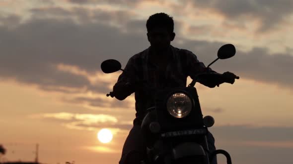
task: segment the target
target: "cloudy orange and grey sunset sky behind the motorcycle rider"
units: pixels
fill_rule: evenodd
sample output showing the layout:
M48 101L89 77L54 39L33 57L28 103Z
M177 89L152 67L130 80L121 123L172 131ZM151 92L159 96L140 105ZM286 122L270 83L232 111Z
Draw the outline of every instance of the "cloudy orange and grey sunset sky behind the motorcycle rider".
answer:
M171 44L208 65L221 45L236 55L212 69L240 80L196 84L216 147L235 164L291 164L292 0L0 0L1 161L117 164L135 118L135 100L106 97L121 72L100 64L149 46L147 18L173 17ZM190 82L190 79L188 79ZM97 132L109 128L103 144ZM218 157L224 164L223 157Z

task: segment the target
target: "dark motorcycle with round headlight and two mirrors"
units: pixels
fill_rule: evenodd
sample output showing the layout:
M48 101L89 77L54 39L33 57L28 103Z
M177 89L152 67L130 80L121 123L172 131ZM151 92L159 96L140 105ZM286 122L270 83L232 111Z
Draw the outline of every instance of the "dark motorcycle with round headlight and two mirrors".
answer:
M222 45L218 58L208 67L218 59L230 58L235 53L234 45ZM104 73L124 71L120 62L114 59L102 62L101 69ZM203 118L194 87L200 78L213 79L215 76L219 74L198 74L187 87L165 88L155 92L155 106L147 109L141 124L147 145L147 158L142 164L210 164L217 154L223 154L227 164L232 164L229 153L224 150L208 153L208 127L212 127L215 120L212 116ZM110 92L107 96L114 97L115 93Z

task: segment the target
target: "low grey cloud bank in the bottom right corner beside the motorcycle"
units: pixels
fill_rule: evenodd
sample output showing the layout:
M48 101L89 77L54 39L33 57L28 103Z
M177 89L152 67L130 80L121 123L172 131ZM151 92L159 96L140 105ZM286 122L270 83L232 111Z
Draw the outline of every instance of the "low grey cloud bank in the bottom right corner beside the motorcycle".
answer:
M227 125L210 128L217 149L226 150L235 164L291 164L293 127ZM223 156L218 162L225 164Z

